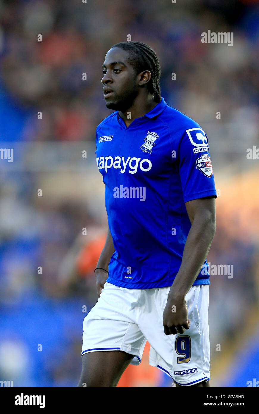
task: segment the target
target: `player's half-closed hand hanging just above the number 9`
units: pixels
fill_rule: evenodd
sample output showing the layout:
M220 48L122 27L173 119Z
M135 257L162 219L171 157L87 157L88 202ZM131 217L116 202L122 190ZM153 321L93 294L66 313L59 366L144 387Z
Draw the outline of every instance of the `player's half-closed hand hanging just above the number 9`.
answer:
M183 334L185 329L189 329L190 320L186 301L177 296L169 296L163 314L163 325L165 335Z

